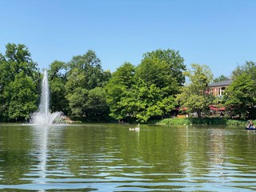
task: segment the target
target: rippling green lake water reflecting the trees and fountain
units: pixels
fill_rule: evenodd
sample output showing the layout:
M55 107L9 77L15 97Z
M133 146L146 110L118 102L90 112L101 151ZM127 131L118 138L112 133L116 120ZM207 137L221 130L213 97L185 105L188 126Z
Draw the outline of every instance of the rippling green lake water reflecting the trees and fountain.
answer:
M1 191L252 191L242 127L0 124Z

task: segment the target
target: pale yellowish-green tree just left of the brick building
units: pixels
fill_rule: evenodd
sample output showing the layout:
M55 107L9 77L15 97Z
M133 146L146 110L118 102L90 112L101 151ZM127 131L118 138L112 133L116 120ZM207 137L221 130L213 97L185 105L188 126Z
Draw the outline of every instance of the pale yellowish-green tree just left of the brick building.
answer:
M197 112L201 118L202 111L209 109L210 95L207 92L208 84L213 78L210 68L206 65L191 64L192 70L184 74L189 79L189 84L182 87L177 101L182 107L187 107L190 112Z

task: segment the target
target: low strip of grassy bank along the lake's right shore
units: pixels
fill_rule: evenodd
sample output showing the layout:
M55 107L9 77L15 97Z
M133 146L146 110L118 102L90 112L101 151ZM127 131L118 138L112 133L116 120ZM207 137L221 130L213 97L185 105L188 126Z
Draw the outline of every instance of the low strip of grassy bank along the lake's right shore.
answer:
M229 118L165 118L158 122L158 125L213 125L213 126L245 126L246 121Z

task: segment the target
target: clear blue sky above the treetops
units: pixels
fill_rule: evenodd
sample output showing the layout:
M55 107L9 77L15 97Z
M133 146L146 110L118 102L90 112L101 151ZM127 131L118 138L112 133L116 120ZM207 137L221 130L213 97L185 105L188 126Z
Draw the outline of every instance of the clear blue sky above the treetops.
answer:
M40 69L94 50L103 70L178 50L214 78L256 62L255 0L1 0L0 53L26 45ZM1 73L1 72L0 72Z

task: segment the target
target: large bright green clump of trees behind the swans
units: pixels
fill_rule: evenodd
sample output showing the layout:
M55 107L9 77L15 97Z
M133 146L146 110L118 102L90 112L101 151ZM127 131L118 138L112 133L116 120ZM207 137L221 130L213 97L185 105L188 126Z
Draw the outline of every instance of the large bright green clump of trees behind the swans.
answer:
M174 109L174 95L185 80L183 58L178 51L155 50L143 55L135 68L124 63L106 86L110 115L118 120L147 122Z

